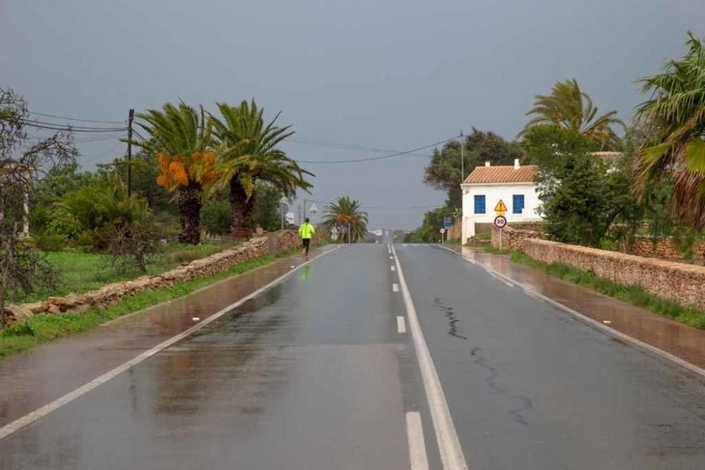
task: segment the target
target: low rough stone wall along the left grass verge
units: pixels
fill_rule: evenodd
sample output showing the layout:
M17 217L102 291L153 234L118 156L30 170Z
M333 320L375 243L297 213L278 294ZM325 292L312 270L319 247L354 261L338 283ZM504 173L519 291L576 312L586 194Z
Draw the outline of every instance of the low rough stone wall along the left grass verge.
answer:
M290 230L288 230L290 231ZM142 276L134 280L104 285L98 290L83 294L69 294L66 297L49 297L42 302L22 305L8 305L6 322L24 319L37 314L80 313L92 307L105 308L121 301L124 297L136 295L142 290L157 290L180 281L194 280L226 271L236 264L258 258L269 253L266 237L252 238L237 247L223 250L203 259L196 259L184 266L156 276Z

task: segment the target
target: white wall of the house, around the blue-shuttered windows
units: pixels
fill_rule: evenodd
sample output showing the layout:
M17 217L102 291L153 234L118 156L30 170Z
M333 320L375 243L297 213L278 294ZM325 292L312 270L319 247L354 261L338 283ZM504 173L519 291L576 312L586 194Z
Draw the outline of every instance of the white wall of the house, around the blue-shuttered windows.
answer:
M517 214L513 207L513 196L524 196L524 209ZM484 214L475 214L475 196L484 196ZM462 243L475 235L476 223L493 223L496 213L494 208L502 199L507 206L504 216L508 223L536 222L543 220L537 214L540 201L534 183L485 183L462 185Z

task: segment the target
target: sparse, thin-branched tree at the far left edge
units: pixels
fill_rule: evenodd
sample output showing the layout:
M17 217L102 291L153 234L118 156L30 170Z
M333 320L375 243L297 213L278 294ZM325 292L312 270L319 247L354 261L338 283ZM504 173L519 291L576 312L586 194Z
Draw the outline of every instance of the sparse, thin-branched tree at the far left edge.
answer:
M6 326L6 299L56 285L54 268L23 238L24 225L37 174L75 163L78 154L71 132L30 140L28 119L23 97L0 87L0 328Z

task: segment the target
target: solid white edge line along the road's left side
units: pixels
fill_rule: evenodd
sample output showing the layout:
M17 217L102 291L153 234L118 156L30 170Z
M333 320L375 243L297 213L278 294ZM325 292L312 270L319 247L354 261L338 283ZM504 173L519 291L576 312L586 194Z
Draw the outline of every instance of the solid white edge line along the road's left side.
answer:
M159 343L159 345L152 347L151 350L142 352L142 354L140 354L139 356L133 357L133 359L130 359L129 361L117 366L115 369L112 369L111 371L104 373L102 376L94 378L89 383L86 383L85 385L82 385L81 387L73 390L73 392L68 392L66 395L63 395L63 397L59 397L56 400L54 400L53 402L47 403L43 407L39 407L39 408L35 409L35 411L30 412L28 414L25 414L25 416L22 416L21 418L18 418L15 421L12 421L11 423L6 424L2 428L0 428L0 440L3 440L8 435L11 435L12 433L15 433L16 431L19 431L20 429L24 428L25 426L28 426L31 423L34 423L38 419L40 419L44 416L47 416L47 414L53 412L56 409L63 407L63 405L70 403L70 402L73 402L73 400L80 397L81 395L85 395L85 393L90 392L91 390L98 387L99 385L106 383L111 378L114 378L114 377L120 375L121 373L123 373L124 371L127 371L131 367L136 366L137 364L140 364L140 362L146 361L150 357L154 356L154 354L157 354L158 352L165 350L167 347L173 345L174 343L176 343L180 340L183 340L184 338L188 338L188 336L192 335L192 333L195 333L197 330L200 330L201 328L203 328L207 324L211 323L212 321L219 319L221 316L228 313L228 311L231 311L235 307L239 307L240 305L244 304L248 300L250 300L254 297L257 297L257 295L261 294L262 292L269 289L270 287L274 287L274 285L281 283L283 280L288 278L295 271L298 271L300 268L311 263L314 259L317 259L321 256L324 256L325 254L329 254L331 252L334 252L334 251L336 251L336 249L338 249L338 247L333 248L327 252L323 252L317 256L314 256L312 259L309 259L309 261L306 261L305 263L300 264L299 266L292 269L291 271L288 271L287 273L283 274L282 276L279 276L275 280L271 281L271 283L265 285L264 287L260 287L259 289L255 290L255 292L252 292L250 295L247 295L247 296L243 297L242 299L238 300L238 302L234 302L233 304L228 305L228 307L225 307L224 309L209 316L207 319L198 323L197 325L192 326L191 328L188 328L188 330L185 330L182 333L179 333L178 335L173 336L172 338L169 338L168 340Z

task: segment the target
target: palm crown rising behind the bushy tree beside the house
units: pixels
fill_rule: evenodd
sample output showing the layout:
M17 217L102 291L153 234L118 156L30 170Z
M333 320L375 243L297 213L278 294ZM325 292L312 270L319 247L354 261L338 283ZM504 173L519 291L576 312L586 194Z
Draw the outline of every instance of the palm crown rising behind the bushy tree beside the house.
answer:
M622 141L611 126L618 124L626 128L623 121L617 118L617 111L597 116L597 106L594 106L589 94L580 91L575 78L556 82L551 94L537 94L534 107L527 111L527 116L532 114L536 116L529 120L519 135L524 135L534 125L558 125L565 130L581 132L599 144L600 149L605 149L621 147Z

